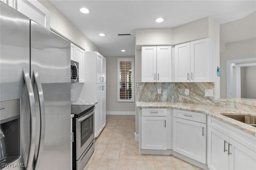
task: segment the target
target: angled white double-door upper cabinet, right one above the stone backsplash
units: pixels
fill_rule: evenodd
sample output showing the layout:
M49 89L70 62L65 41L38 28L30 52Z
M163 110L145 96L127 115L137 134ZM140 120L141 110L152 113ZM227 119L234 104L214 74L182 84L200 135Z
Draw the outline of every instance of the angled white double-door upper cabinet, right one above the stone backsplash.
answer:
M214 82L214 41L210 38L175 45L175 82Z

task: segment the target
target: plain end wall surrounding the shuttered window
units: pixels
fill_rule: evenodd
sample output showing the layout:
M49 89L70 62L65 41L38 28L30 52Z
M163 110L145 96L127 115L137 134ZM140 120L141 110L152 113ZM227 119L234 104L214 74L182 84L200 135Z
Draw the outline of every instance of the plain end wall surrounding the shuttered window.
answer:
M118 58L134 58L135 71L135 56L125 57L106 57L106 111L124 111L135 112L135 97L134 102L117 102L117 59ZM134 75L136 72L134 73ZM134 83L135 91L135 83Z

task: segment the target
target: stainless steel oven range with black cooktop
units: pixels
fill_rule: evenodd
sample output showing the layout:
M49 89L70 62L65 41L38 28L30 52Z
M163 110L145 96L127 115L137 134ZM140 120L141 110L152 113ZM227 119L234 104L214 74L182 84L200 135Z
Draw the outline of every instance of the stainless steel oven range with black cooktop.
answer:
M94 152L94 105L71 105L73 170L82 170Z

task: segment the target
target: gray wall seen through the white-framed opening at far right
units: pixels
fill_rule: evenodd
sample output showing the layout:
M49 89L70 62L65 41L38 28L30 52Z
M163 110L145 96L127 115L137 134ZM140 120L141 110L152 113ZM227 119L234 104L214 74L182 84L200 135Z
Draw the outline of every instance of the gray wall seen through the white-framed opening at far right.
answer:
M241 67L241 98L256 99L256 66Z

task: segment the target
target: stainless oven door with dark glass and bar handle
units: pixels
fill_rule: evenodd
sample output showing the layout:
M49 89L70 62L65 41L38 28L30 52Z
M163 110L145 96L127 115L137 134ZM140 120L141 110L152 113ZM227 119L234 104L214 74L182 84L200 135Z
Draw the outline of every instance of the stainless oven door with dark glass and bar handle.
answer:
M94 139L94 109L76 119L76 160Z

